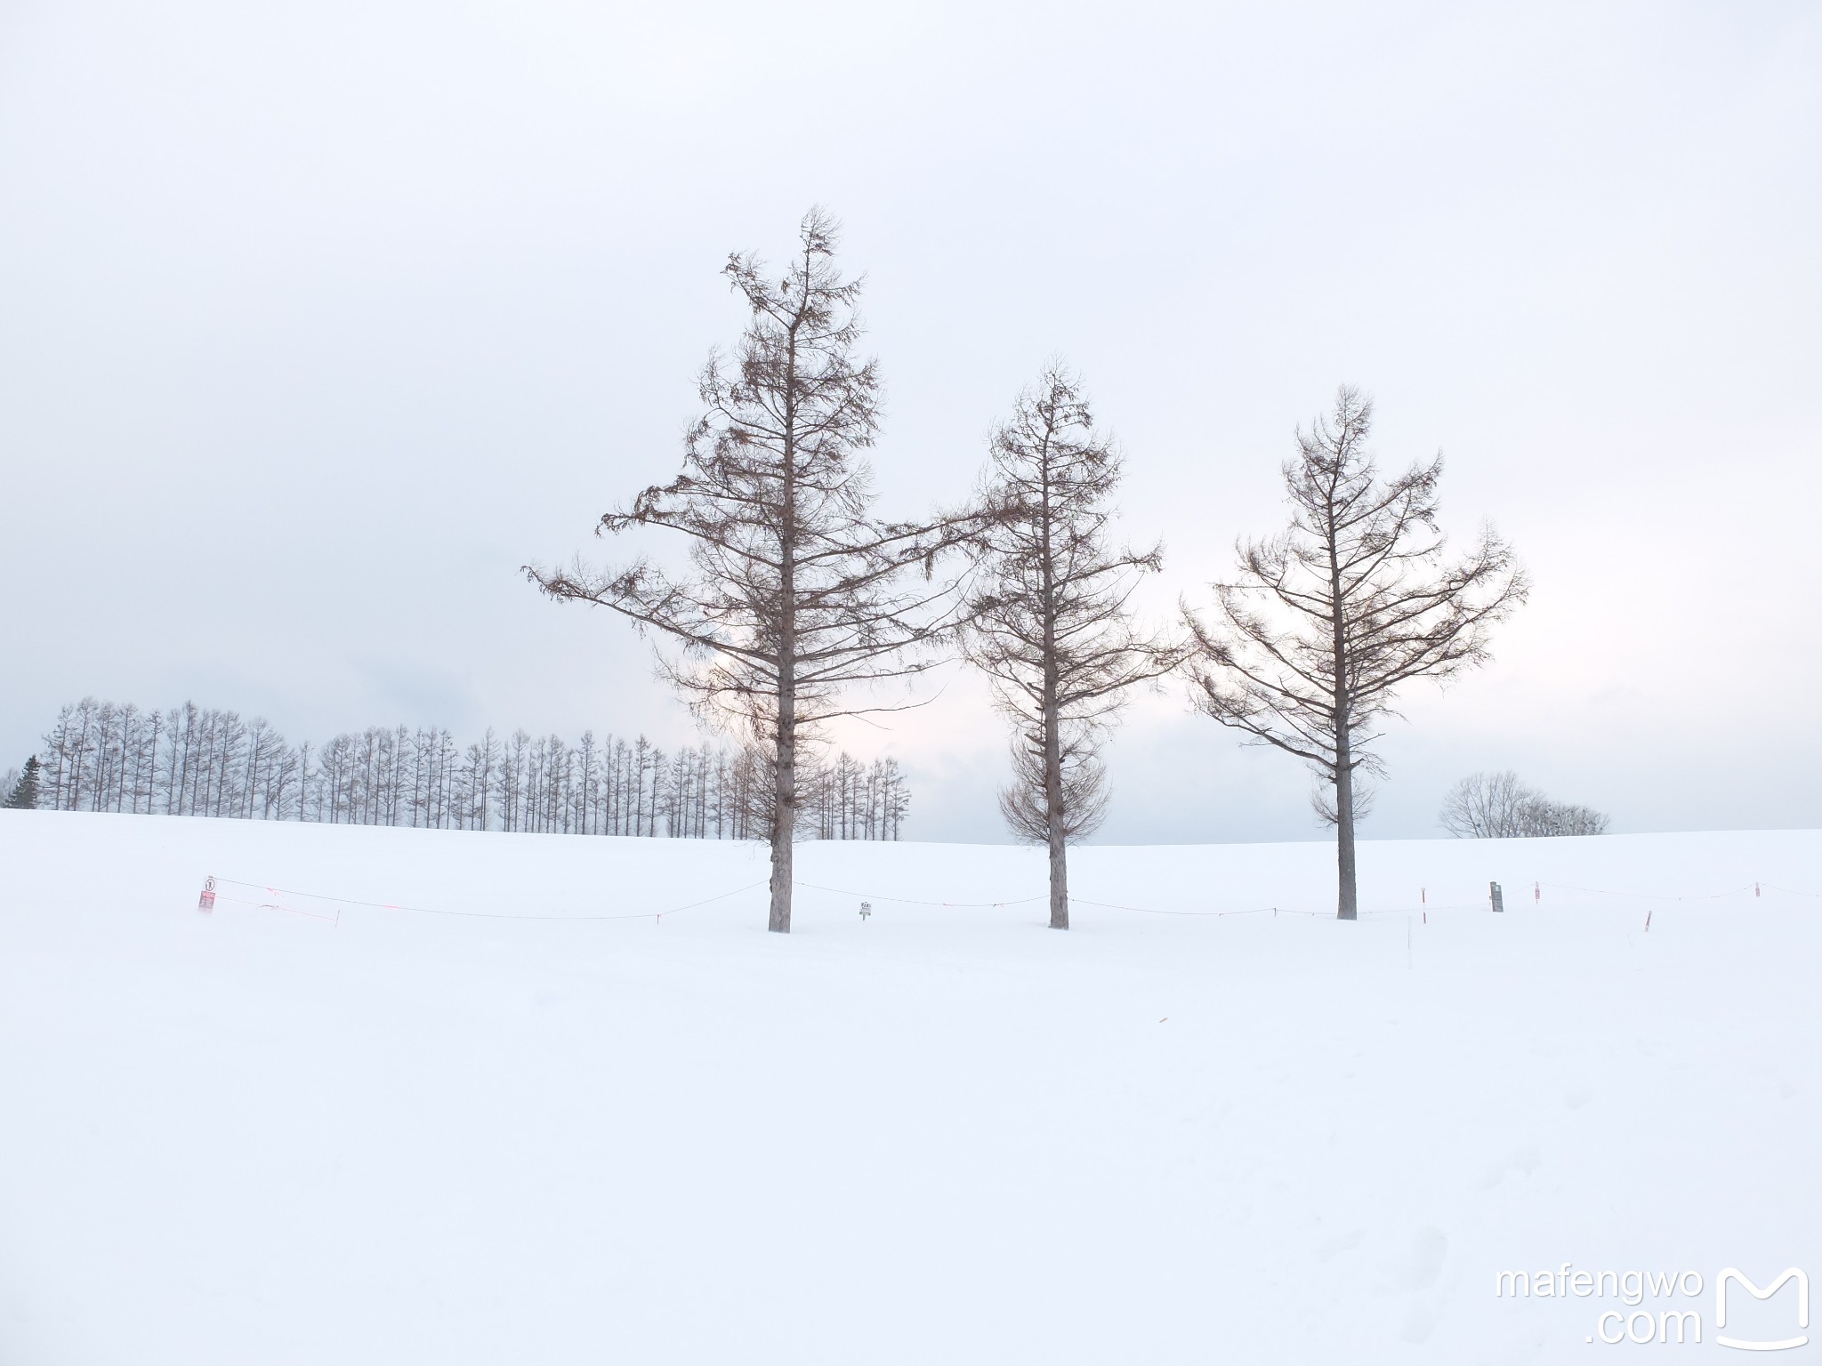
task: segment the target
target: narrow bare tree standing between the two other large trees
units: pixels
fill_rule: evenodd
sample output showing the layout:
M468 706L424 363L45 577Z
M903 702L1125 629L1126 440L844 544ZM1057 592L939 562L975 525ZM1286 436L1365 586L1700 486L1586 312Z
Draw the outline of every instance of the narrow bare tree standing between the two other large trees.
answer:
M1049 851L1049 927L1070 927L1068 845L1106 818L1100 747L1128 690L1182 663L1130 608L1162 545L1115 548L1108 526L1122 459L1095 432L1080 382L1051 364L988 444L984 557L966 632L1013 723L1000 812Z

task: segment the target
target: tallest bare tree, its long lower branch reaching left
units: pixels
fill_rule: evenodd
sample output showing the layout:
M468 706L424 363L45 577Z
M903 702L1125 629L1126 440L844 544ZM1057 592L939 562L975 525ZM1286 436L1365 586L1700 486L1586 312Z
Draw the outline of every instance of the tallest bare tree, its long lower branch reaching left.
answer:
M834 264L836 224L811 209L782 277L752 255L725 275L749 321L731 357L700 377L703 415L683 474L609 512L596 534L680 534L694 574L638 559L614 570L527 574L559 601L612 608L660 650L661 674L698 716L734 723L773 767L769 929L791 929L798 749L834 716L882 710L858 688L906 678L935 656L958 596L931 577L960 528L873 514L864 452L878 430L878 368L856 355L858 280ZM907 574L922 566L920 579Z

